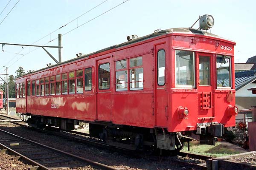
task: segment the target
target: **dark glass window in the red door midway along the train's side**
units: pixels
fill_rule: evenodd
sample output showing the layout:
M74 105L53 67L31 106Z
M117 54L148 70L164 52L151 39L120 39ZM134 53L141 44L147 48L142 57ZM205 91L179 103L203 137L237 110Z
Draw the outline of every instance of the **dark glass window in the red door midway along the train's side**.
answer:
M99 89L110 88L110 64L105 63L99 65Z

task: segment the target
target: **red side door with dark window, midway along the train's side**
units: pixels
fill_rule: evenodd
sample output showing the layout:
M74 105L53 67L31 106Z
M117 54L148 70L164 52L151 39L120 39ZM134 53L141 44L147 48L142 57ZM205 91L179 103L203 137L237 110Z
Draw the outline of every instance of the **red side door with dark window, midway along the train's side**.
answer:
M111 88L109 59L97 61L97 120L111 121Z

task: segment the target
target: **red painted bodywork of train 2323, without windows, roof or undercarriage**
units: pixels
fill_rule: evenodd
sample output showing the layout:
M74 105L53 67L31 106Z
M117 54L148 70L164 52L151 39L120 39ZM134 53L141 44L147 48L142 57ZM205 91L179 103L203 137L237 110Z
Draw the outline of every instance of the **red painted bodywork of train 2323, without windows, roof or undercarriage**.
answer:
M220 45L230 46L232 51L220 49ZM226 99L229 91L235 93L234 81L232 89L216 89L216 54L231 56L234 79L234 45L234 42L217 37L172 33L93 54L88 58L57 65L16 80L16 83L21 83L92 67L91 91L84 91L83 94L17 98L16 109L20 113L92 122L100 120L118 125L165 127L169 132L196 130L197 123L203 122L234 126L235 116L229 116L227 107L234 106L235 101L227 102ZM156 56L159 49L164 49L166 54L166 83L163 86L157 85ZM195 88L175 88L175 49L195 51ZM210 57L210 86L201 86L199 83L198 56L201 54ZM115 61L140 56L143 58L143 90L116 91ZM99 90L98 67L106 62L110 63L110 88ZM200 109L199 98L202 92L211 93L212 108L208 111ZM52 104L58 104L58 108L51 108ZM180 106L189 109L188 119L180 119L177 112ZM204 119L207 117L212 119Z

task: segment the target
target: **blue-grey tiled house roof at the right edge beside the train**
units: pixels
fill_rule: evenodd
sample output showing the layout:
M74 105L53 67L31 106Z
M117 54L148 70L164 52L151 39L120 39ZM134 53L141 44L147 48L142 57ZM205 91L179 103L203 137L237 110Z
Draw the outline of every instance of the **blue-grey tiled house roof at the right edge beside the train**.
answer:
M256 80L256 70L235 73L236 91Z

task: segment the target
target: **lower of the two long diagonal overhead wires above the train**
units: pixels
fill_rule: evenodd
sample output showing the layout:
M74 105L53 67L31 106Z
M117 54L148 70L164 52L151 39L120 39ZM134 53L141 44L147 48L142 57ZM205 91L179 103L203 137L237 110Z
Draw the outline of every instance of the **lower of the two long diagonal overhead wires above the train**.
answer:
M109 9L109 10L103 12L102 14L99 14L98 16L92 18L91 20L88 20L87 22L85 22L85 23L83 23L83 24L77 26L76 28L71 29L70 31L67 31L66 33L62 34L62 36L64 36L64 35L70 33L71 31L76 30L77 28L79 28L79 27L81 27L81 26L84 26L85 24L89 23L90 21L95 20L96 18L102 16L103 14L108 13L109 11L113 10L114 8L116 8L116 7L118 7L118 6L120 6L120 5L124 4L124 3L126 3L127 1L129 1L129 0L124 0L122 3L119 3L118 5L116 5L116 6L114 6L113 8L111 8L111 9ZM76 20L76 19L74 19L74 20ZM56 40L56 39L58 39L58 37L55 38L55 39L53 39L53 40L50 40L49 42L52 42L52 41L54 41L54 40ZM47 45L49 42L47 42L47 43L44 44L44 45ZM38 47L38 48L39 48L39 47ZM13 62L11 65L9 65L9 67L11 67L12 65L14 65L14 64L15 64L18 60L20 60L22 57L26 56L27 54L29 54L29 53L31 53L31 52L33 52L33 51L35 51L35 50L37 50L38 48L35 48L34 50L29 51L28 53L24 54L24 55L21 56L19 59L17 59L15 62ZM18 53L20 53L20 52L18 52ZM16 56L17 56L17 55L16 55ZM15 57L16 57L16 56L15 56Z

